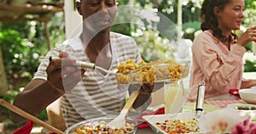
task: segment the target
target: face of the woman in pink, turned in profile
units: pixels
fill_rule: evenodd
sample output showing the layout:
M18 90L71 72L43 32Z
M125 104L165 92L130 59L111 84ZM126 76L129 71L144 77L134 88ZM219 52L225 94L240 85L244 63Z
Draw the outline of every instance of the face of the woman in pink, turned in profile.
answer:
M218 27L223 31L239 30L241 20L244 17L242 10L244 8L244 0L231 0L227 3L223 10L214 8L218 18Z

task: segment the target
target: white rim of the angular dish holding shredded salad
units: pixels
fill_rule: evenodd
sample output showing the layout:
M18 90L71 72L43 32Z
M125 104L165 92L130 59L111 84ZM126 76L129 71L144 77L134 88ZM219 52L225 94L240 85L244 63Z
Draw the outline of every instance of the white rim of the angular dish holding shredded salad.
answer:
M165 122L165 120L183 120L183 119L193 119L195 118L195 112L183 112L178 114L156 114L156 115L145 115L144 120L147 120L148 125L157 134L167 134L166 131L162 131L156 123Z

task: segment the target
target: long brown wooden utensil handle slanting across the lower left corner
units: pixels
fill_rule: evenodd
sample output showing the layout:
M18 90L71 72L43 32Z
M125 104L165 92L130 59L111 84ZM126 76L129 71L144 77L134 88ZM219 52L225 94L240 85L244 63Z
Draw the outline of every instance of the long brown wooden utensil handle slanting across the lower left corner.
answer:
M29 120L32 120L32 121L38 123L38 125L43 126L44 128L48 129L49 131L53 131L57 134L64 134L63 131L60 131L59 129L57 129L53 126L50 126L49 124L45 123L42 120L39 120L37 117L33 116L32 114L26 113L24 110L19 109L15 105L8 103L1 98L0 98L0 104L3 105L5 108L10 109L11 111L15 112L16 114L20 114L21 116L25 117L26 119L29 119Z

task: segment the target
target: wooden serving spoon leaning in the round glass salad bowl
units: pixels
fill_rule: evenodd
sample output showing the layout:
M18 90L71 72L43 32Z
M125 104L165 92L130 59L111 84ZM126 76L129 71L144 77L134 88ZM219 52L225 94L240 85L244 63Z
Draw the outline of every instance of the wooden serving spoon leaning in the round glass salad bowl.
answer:
M135 102L139 91L135 91L131 93L131 97L125 103L124 108L121 110L120 114L113 120L108 123L108 127L110 128L124 128L125 127L125 116L128 114L129 110L131 109L132 104Z

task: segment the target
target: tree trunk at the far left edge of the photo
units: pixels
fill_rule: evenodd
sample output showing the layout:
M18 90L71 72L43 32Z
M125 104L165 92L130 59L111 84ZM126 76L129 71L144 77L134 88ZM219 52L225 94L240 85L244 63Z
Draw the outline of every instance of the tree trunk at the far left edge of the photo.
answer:
M4 66L3 66L3 53L2 49L0 48L0 96L4 95L7 93L8 90L8 84L7 84L7 79L4 71Z

